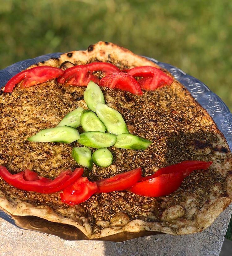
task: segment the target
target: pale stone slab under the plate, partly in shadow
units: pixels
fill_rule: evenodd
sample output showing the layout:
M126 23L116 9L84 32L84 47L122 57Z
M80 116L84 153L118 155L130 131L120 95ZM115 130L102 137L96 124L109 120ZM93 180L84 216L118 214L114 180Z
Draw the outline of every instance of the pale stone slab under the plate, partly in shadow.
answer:
M55 236L21 230L0 219L1 256L216 256L230 220L230 205L216 221L201 233L142 237L123 243L105 241L66 241Z

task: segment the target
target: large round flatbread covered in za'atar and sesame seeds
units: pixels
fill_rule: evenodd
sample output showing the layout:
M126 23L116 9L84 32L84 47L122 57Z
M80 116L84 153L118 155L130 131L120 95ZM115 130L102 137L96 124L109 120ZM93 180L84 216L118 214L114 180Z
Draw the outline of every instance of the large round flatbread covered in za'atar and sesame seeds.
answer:
M36 65L66 69L93 61L113 63L120 69L159 66L113 43L99 42L86 51L62 54ZM32 68L36 65L32 65ZM164 70L168 75L168 71ZM82 87L64 87L55 80L27 89L15 87L0 95L0 165L11 173L26 168L54 178L63 169L78 167L70 145L29 142L27 137L55 127L78 106L87 109ZM178 81L143 96L102 88L108 106L124 117L129 131L153 143L144 151L112 147L114 163L94 166L84 175L91 181L142 167L147 176L157 169L183 160L212 160L206 171L195 171L171 195L149 198L119 191L93 195L86 202L69 206L51 195L14 188L0 178L0 207L13 215L38 216L73 225L89 239L122 231L158 231L181 235L207 228L232 201L232 156L225 137L212 118Z

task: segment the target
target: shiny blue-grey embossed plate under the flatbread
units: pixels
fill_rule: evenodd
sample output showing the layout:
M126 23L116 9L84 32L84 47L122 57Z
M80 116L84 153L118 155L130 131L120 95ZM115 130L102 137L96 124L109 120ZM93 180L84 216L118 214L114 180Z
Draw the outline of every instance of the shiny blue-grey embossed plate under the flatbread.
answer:
M36 57L34 59L28 59L19 61L0 70L0 88L5 86L7 81L11 79L15 74L26 69L27 67L38 63L40 61L46 61L50 58L59 58L62 53L51 53ZM184 71L167 63L159 62L153 58L148 60L157 63L160 67L168 70L185 88L191 93L196 101L206 109L209 115L213 118L219 130L224 134L226 141L232 151L232 114L226 104L210 89L198 79L186 74ZM39 231L50 235L59 236L66 240L82 240L87 239L83 234L75 227L68 225L62 225L60 223L49 222L41 218L34 216L12 216L4 211L0 210L0 218L10 222L16 227L28 230ZM149 236L157 234L157 232L143 231L139 233L119 233L113 237L102 238L101 240L109 240L115 242L121 242L126 240L135 239L142 236Z

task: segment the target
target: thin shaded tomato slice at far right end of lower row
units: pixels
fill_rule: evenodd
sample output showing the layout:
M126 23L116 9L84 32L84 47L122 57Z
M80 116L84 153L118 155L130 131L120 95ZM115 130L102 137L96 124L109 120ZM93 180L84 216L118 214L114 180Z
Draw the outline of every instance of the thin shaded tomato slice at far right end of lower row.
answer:
M195 161L195 160L183 161L178 164L173 164L170 166L163 167L159 169L157 172L155 172L153 175L142 177L140 181L149 180L166 173L178 173L178 172L182 172L185 178L195 170L208 169L212 163L213 162Z

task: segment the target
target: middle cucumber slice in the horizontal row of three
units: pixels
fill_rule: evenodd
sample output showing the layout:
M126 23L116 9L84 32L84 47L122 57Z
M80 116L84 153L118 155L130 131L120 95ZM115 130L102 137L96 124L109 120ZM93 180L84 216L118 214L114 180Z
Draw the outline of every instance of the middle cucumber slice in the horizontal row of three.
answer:
M92 148L106 148L113 146L116 142L114 134L105 132L83 132L80 134L78 143Z

